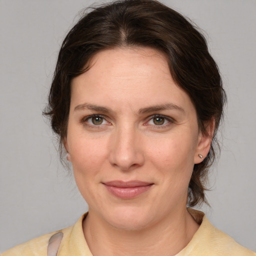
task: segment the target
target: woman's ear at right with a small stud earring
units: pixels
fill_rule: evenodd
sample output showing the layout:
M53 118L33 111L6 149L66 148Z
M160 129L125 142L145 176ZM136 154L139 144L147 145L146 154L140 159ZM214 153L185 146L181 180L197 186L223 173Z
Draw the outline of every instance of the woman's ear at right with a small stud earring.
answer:
M204 122L204 131L199 131L197 146L194 154L194 163L201 162L210 150L211 140L214 133L215 119L211 118Z

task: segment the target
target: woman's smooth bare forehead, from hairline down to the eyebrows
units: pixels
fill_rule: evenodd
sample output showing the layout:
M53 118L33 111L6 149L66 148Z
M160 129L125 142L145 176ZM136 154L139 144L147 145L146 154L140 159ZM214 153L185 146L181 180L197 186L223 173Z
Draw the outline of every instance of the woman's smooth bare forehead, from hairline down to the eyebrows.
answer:
M88 100L118 108L123 104L134 108L191 104L188 95L175 84L165 56L146 47L98 52L91 59L90 68L74 77L71 86L71 105Z

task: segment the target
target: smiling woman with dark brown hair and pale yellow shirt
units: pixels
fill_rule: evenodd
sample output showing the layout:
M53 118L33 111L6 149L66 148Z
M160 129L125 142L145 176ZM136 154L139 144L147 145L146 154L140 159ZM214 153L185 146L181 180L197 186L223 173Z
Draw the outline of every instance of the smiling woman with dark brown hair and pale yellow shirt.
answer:
M85 14L45 114L88 213L2 255L255 255L186 207L206 201L224 101L205 39L179 13L126 0Z

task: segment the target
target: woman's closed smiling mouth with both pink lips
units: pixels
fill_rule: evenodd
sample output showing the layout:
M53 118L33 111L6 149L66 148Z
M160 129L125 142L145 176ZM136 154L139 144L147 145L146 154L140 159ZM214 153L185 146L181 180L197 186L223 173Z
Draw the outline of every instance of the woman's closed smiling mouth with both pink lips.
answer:
M114 196L121 199L132 199L150 189L153 183L140 180L122 181L112 180L102 182L106 189Z

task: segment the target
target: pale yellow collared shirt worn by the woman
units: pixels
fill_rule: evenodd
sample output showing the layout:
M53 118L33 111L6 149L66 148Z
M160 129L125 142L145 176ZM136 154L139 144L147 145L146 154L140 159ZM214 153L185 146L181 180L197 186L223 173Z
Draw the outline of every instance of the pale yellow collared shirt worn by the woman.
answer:
M175 256L256 256L255 252L236 243L230 236L210 224L203 212L188 209L194 219L201 223L191 241ZM50 237L63 233L57 256L92 256L84 239L82 220L86 213L70 227L34 238L3 252L0 256L47 256Z

